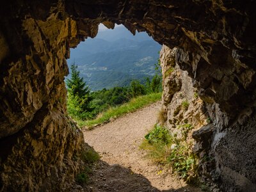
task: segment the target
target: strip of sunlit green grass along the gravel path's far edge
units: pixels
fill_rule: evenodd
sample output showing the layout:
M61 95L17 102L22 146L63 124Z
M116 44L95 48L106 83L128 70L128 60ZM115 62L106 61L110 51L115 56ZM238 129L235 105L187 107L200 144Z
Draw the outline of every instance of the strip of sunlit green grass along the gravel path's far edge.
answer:
M129 102L123 104L122 106L118 106L116 108L109 108L106 112L102 113L102 115L98 116L94 120L87 121L77 121L79 127L88 127L88 129L92 129L95 125L104 124L109 122L112 118L118 118L126 113L131 113L136 111L137 109L143 108L148 104L152 104L157 100L161 99L162 93L151 93L148 95L143 95L140 97L136 97Z

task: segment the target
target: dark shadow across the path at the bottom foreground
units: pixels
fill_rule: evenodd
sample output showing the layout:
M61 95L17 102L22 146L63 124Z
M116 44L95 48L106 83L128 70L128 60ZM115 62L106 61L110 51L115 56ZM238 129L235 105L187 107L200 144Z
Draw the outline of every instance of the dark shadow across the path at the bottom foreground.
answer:
M157 192L150 181L141 174L132 172L129 168L124 168L119 164L109 165L104 161L99 161L93 168L90 181L79 191L119 191L119 192ZM76 191L76 190L75 190ZM167 189L165 192L174 191L198 191L191 186L180 189Z

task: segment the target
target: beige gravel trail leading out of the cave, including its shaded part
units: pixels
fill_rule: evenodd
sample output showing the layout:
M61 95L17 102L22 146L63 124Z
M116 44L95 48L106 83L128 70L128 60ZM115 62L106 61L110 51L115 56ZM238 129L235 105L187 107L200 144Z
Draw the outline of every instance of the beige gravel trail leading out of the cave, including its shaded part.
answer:
M156 124L160 108L157 102L84 131L86 143L102 156L93 168L90 191L198 191L150 162L139 148L145 134Z

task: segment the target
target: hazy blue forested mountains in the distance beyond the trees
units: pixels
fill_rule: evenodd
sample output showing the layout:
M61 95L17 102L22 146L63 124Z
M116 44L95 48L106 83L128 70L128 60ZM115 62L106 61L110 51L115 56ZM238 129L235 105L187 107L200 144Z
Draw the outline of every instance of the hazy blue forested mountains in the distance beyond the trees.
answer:
M161 45L147 33L133 36L127 29L99 31L95 38L72 49L68 65L74 61L92 90L126 86L132 79L154 74Z

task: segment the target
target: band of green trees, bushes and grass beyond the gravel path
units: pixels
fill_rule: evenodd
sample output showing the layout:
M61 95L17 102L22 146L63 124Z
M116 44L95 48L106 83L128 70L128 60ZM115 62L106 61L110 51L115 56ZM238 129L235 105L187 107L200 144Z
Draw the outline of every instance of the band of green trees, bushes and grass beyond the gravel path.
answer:
M79 122L79 125L92 127L94 124L108 122L110 118L116 118L160 100L162 77L159 63L156 64L155 71L155 76L152 79L147 77L144 84L133 80L126 87L115 87L109 90L104 88L97 92L90 92L83 77L79 77L77 66L73 64L71 77L66 82L68 115ZM145 96L140 97L141 95ZM100 117L99 114L101 114ZM93 118L96 119L93 120Z

